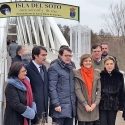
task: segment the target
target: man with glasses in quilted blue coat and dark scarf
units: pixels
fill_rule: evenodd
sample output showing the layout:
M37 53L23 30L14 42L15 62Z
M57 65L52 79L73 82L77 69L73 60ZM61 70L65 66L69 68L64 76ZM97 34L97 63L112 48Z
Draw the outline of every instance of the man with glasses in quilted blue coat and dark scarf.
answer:
M48 69L50 112L53 122L58 125L73 125L76 113L71 57L72 51L63 47L59 50L58 60Z

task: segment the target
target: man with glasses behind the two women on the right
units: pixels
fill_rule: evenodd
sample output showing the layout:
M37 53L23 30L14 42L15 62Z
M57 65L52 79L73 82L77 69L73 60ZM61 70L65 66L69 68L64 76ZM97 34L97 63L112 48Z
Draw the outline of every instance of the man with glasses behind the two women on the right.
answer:
M93 57L93 68L103 70L104 69L104 62L101 58L102 56L102 47L101 45L95 44L91 48L92 57Z

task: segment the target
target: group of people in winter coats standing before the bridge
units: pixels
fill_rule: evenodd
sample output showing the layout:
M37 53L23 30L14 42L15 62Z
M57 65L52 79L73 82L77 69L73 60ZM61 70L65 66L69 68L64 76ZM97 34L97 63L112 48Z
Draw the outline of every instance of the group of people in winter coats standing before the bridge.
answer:
M35 46L28 63L25 51L17 47L8 73L4 125L45 125L48 105L54 125L73 125L74 118L78 125L115 125L119 110L125 119L124 79L107 43L83 54L79 69L68 46L60 47L48 70L46 48Z

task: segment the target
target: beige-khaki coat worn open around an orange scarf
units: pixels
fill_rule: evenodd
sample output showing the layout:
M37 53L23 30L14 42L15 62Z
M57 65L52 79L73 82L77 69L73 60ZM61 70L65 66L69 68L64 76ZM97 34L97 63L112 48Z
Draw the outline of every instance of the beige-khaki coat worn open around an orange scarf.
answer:
M83 102L88 101L88 94L86 85L80 74L80 70L75 70L75 92L78 98L77 100L77 117L78 121L95 121L99 119L99 102L101 99L101 84L100 84L100 73L94 70L94 82L92 88L92 103L96 103L97 106L92 112L87 112ZM90 105L90 104L89 104Z

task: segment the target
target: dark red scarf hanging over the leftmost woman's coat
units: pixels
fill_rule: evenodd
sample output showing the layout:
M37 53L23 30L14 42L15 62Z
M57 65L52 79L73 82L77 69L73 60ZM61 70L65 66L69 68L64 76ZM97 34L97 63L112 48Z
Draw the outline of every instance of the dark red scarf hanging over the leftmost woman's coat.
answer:
M24 85L26 86L26 102L27 106L32 107L32 102L33 102L33 93L32 93L32 88L27 79L21 80ZM27 118L24 117L24 125L28 125L28 120Z

